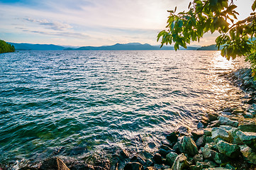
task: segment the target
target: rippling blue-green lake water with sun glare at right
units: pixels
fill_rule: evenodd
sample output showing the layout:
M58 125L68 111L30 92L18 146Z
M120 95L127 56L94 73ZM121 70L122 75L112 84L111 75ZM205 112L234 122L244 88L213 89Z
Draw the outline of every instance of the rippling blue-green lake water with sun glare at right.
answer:
M201 114L239 104L211 51L25 51L0 55L0 162L145 149ZM141 135L143 144L133 142Z

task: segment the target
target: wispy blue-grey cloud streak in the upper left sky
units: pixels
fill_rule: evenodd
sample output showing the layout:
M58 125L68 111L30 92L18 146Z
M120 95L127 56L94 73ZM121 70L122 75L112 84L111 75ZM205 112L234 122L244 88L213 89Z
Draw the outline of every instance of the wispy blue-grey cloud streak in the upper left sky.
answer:
M32 18L23 18L23 21L29 21L31 23L38 23L41 26L47 26L46 28L50 28L52 30L67 30L69 28L72 28L72 26L70 26L67 23L60 23L58 21L50 22L46 19L35 20L35 19L32 19Z

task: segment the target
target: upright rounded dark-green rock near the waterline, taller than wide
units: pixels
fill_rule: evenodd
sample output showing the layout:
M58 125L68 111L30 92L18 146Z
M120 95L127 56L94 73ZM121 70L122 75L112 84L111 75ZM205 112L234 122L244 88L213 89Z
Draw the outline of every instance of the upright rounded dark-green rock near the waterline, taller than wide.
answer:
M181 141L181 152L190 154L194 156L198 153L198 149L196 147L196 143L192 140L191 137L184 136Z

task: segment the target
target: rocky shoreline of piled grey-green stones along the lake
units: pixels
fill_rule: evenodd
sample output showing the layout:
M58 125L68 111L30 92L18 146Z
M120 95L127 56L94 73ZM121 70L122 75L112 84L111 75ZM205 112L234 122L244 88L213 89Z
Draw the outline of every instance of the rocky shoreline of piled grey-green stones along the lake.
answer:
M245 107L223 108L221 114L207 113L196 130L181 126L162 140L158 151L147 158L121 149L114 162L99 159L65 162L50 157L35 166L18 169L58 170L153 170L153 169L256 169L256 81L250 69L223 75L245 91ZM149 143L149 147L155 147ZM1 168L0 169L7 169Z

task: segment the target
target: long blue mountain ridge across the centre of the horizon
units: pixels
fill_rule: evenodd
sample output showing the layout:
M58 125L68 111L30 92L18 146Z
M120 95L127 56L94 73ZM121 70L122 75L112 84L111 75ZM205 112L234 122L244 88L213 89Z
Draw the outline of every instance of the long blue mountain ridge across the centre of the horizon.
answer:
M199 47L189 46L187 49L181 47L180 50L197 50ZM115 45L105 45L101 47L78 47L78 48L65 48L64 50L174 50L173 46L163 46L160 45L150 45L150 44L140 44L138 42L132 42L128 44L115 44Z

